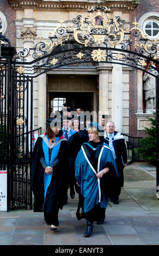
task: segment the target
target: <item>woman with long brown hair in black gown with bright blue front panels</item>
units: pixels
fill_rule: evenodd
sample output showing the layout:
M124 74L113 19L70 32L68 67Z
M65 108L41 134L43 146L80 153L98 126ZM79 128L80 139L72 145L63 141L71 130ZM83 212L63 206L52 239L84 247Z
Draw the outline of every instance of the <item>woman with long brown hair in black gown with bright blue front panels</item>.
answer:
M45 222L56 231L59 209L63 208L68 187L68 141L58 126L47 119L48 128L38 137L32 164L34 211L43 211Z

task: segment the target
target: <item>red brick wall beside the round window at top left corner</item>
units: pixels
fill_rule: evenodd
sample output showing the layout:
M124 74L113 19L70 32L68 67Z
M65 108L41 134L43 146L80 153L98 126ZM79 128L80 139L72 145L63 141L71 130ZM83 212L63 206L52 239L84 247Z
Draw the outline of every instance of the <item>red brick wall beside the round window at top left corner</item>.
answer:
M5 15L8 23L5 36L10 40L11 46L16 47L16 28L14 21L16 19L16 11L5 0L0 0L0 11Z

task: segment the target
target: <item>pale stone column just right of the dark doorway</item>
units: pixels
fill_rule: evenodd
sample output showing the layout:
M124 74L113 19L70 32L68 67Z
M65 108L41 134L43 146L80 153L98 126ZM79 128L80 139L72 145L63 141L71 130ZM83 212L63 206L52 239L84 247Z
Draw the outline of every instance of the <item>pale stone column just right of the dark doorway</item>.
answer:
M108 78L109 78L109 70L112 67L110 66L99 66L97 70L99 70L99 123L101 123L102 115L109 115L108 109Z

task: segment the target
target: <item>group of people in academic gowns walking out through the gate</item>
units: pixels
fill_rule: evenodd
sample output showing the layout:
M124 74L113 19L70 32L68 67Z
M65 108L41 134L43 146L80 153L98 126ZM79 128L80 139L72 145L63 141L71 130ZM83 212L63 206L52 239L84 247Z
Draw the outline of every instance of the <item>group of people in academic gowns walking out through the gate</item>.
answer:
M110 199L119 204L127 163L124 136L113 121L102 115L85 120L82 108L64 109L46 120L47 130L39 136L33 151L32 189L34 211L44 212L52 231L60 228L58 213L78 194L77 220L86 220L85 237L94 222L102 224Z

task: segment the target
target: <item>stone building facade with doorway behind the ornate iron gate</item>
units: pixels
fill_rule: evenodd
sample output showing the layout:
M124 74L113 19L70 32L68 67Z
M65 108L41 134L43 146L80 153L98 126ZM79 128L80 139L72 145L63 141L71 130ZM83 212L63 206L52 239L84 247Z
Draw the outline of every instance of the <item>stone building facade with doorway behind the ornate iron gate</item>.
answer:
M0 19L7 24L2 31L16 47L17 52L30 48L38 36L47 39L59 21L69 21L79 14L87 13L94 0L47 1L33 0L0 1ZM144 33L149 32L150 40L159 41L159 2L149 0L109 0L103 5L111 8L110 16L122 17L127 24L134 22ZM5 19L4 19L5 18ZM154 33L154 34L153 34ZM50 117L50 108L54 100L68 101L71 107L83 105L84 109L105 114L113 120L116 130L132 136L144 136L144 126L148 126L145 113L143 72L117 64L83 64L54 69L34 79L34 129L42 127Z

